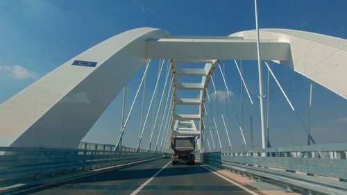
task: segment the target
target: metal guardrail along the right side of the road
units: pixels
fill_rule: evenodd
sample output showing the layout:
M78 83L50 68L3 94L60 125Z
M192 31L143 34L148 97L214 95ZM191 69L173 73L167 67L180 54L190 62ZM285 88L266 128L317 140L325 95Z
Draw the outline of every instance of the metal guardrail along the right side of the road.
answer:
M202 153L204 163L309 190L347 194L347 143Z

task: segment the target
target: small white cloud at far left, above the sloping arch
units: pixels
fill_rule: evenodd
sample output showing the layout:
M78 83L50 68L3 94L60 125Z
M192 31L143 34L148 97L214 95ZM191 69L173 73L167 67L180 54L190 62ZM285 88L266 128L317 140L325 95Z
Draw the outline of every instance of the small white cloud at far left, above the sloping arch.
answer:
M26 68L19 65L15 66L0 66L0 71L5 72L8 76L15 79L37 78L35 72L28 71Z

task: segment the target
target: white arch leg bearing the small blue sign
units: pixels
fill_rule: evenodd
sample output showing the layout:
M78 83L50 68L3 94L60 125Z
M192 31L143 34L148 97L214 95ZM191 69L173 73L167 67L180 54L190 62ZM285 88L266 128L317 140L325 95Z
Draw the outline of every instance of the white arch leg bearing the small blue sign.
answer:
M137 28L111 37L37 80L0 106L2 146L77 148L125 83L145 65L146 40L165 37ZM75 60L96 67L72 65Z

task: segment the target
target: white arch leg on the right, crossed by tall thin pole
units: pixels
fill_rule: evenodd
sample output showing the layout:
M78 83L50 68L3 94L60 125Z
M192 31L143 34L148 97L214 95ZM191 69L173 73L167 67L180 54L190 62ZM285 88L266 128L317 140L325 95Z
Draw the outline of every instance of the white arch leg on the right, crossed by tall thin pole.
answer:
M230 36L256 39L255 31L242 31ZM260 40L289 42L289 58L280 61L281 65L347 99L347 40L289 29L262 29Z

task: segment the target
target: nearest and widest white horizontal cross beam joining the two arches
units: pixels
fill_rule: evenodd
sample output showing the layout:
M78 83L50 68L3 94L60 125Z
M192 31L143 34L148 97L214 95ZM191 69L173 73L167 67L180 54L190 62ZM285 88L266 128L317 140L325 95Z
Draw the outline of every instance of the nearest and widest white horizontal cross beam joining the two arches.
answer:
M162 38L147 42L146 58L255 60L256 44L256 40ZM264 51L263 60L289 59L290 49L287 42L262 40L261 46Z

